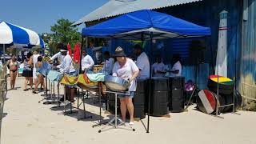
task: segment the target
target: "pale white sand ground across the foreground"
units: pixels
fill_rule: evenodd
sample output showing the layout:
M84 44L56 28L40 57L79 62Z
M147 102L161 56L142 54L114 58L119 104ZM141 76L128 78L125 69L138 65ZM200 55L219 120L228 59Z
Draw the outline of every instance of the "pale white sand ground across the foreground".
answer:
M22 87L23 81L18 78L16 86ZM7 98L4 107L6 116L2 120L2 144L256 143L254 112L222 114L225 119L221 119L194 110L192 106L188 112L170 114L171 118L150 117L150 134L146 134L142 122L135 122L135 132L107 130L98 134L100 127L92 128L94 122L90 119L78 122L77 117L81 117L82 113L79 116L64 116L60 110L50 110L54 105L38 103L42 99L41 94L24 92L19 88L9 91ZM86 110L97 118L98 107L87 104ZM146 125L146 118L143 122Z

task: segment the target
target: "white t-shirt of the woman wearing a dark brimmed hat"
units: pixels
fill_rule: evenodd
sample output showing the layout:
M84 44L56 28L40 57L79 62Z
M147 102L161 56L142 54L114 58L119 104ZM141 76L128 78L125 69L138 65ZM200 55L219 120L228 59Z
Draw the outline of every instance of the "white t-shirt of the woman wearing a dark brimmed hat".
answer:
M130 58L126 58L126 64L122 67L119 65L119 62L114 63L113 76L128 80L136 71L138 71L138 67L134 61ZM136 81L133 80L130 82L129 91L136 91L136 87Z

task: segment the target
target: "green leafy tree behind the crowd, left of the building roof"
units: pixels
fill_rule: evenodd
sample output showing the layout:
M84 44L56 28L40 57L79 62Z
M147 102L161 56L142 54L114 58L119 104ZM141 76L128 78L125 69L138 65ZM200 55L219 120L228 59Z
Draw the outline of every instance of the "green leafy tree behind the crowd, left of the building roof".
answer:
M49 34L48 45L53 53L56 52L56 43L70 43L71 48L74 48L74 45L77 42L81 42L81 34L78 33L78 28L71 26L72 23L68 19L59 19L54 26L50 26L50 30L53 34ZM47 42L47 41L46 41Z

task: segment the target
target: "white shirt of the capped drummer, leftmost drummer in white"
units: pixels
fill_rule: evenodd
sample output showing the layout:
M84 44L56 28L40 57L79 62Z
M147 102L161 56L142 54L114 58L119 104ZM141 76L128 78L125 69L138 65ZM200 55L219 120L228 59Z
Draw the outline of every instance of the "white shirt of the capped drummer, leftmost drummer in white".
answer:
M63 58L62 63L58 65L57 68L59 68L61 73L65 74L75 72L70 54L66 54L66 56Z

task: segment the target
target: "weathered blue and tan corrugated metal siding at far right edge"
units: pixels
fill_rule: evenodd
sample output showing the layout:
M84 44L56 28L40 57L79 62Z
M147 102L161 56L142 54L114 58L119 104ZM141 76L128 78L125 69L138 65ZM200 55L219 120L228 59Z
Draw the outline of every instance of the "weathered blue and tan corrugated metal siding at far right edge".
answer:
M241 92L245 99L246 109L256 110L256 1L248 0L245 6L248 17L243 22Z

